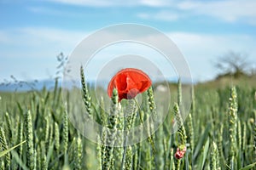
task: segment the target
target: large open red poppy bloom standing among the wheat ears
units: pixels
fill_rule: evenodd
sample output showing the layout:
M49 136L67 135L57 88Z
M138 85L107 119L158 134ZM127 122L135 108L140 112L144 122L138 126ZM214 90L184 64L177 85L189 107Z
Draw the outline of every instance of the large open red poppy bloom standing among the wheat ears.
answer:
M108 83L108 96L111 97L113 88L117 88L119 101L133 99L151 86L151 80L146 73L134 68L126 68L118 73Z

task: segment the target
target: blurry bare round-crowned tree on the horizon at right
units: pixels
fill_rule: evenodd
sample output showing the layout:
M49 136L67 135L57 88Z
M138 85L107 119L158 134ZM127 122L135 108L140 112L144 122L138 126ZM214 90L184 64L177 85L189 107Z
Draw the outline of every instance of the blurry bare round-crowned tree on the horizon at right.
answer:
M218 77L227 75L234 77L247 76L249 69L247 54L233 51L220 56L214 66L221 71Z

